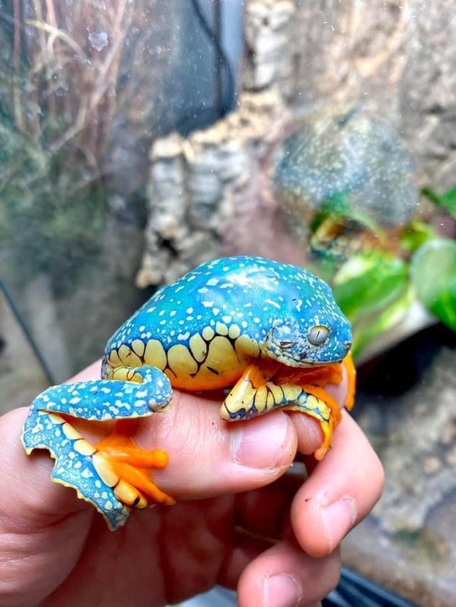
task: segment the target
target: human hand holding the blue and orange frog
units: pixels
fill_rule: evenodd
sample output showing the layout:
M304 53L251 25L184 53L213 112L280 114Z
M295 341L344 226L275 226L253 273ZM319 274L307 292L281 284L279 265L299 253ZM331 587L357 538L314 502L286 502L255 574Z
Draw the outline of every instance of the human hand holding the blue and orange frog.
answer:
M98 377L99 363L73 381ZM340 402L345 385L331 386ZM345 411L316 463L308 416L227 423L219 405L175 391L170 411L138 423L138 443L170 455L154 478L177 505L137 510L116 532L49 482L47 452L25 455L26 409L1 417L0 605L160 606L214 584L237 588L241 607L317 605L337 584L338 544L380 496L378 458ZM296 458L308 478L287 473Z

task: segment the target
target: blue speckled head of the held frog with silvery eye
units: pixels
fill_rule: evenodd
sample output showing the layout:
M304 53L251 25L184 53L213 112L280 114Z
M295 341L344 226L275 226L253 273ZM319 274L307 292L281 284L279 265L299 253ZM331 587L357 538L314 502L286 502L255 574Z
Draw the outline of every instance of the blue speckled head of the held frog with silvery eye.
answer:
M287 314L275 320L267 334L268 357L299 367L336 363L346 357L352 342L350 323L324 283L323 289L324 300L289 302Z

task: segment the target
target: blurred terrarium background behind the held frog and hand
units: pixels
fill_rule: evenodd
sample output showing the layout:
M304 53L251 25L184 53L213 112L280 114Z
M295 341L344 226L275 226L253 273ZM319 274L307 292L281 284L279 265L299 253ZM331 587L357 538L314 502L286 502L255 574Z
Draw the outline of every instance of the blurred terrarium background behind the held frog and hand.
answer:
M387 475L344 563L455 604L455 36L451 0L0 1L0 411L197 263L306 265Z

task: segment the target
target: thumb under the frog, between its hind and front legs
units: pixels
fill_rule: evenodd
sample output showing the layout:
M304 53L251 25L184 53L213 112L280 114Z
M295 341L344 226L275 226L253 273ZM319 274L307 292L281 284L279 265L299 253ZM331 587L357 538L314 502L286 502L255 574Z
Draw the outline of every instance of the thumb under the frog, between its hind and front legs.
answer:
M155 482L177 499L248 491L281 476L296 455L296 429L283 411L249 421L219 417L221 401L173 391L172 406L138 426L143 448L167 451Z

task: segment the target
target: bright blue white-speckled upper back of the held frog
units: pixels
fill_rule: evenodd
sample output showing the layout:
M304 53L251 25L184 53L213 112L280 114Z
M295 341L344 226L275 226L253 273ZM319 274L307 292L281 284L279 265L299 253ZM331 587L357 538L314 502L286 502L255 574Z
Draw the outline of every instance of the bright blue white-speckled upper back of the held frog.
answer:
M242 317L240 325L236 316ZM162 287L115 333L108 349L145 339L145 329L147 339L159 340L165 349L177 343L176 336L190 348L195 334L204 337L210 327L215 334L227 335L232 324L260 342L274 322L288 317L298 317L303 331L312 322L325 324L327 319L337 324L343 319L331 290L307 270L264 258L222 258Z

